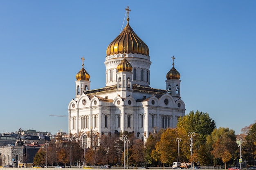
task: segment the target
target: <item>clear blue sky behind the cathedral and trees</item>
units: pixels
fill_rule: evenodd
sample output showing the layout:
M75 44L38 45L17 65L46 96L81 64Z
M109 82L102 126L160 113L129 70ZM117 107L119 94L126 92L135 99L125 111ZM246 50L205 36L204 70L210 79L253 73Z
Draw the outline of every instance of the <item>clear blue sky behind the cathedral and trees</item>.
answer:
M130 26L150 50L150 86L181 74L186 114L209 113L240 133L256 120L255 0L1 0L0 132L68 131L67 105L85 57L104 87L107 46Z

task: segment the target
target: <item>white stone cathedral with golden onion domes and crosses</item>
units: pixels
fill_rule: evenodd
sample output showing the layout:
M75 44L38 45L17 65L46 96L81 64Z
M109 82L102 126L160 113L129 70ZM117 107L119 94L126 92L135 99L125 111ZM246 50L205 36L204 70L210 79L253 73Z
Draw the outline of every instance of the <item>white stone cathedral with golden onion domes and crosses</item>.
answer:
M91 89L82 64L76 74L75 98L68 105L69 133L87 147L92 136L129 132L146 141L150 133L174 128L185 114L180 73L166 71L166 89L150 87L150 57L145 42L127 24L106 50L106 86ZM84 58L81 58L82 61Z

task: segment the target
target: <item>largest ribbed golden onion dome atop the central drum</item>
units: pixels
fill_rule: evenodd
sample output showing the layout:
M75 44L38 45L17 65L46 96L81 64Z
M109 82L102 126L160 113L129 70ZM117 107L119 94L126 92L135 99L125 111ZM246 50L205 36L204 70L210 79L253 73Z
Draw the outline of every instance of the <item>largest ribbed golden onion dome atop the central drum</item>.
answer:
M129 16L129 15L128 15ZM149 56L149 49L138 35L132 30L129 25L129 17L127 16L127 24L124 30L112 41L107 48L107 55L118 53L137 53Z

